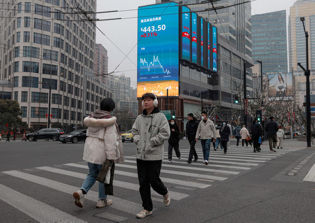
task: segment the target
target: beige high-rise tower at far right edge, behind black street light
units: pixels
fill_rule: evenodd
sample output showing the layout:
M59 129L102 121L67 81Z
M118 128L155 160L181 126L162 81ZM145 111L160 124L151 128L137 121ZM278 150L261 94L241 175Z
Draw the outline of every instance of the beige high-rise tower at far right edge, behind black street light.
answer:
M301 17L304 17L305 30L309 34L308 56L310 75L310 93L315 94L315 1L297 0L290 7L289 16L289 71L293 70L296 87L296 103L304 102L306 94L306 76L297 65L301 63L306 69L306 38Z

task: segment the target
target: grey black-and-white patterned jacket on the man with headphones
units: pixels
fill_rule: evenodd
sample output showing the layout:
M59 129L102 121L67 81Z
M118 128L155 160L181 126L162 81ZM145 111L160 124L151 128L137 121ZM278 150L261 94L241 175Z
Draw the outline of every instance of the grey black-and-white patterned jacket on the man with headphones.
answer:
M132 126L137 147L136 157L142 160L163 160L164 141L169 139L169 123L164 114L155 107L147 115L146 109L138 115Z

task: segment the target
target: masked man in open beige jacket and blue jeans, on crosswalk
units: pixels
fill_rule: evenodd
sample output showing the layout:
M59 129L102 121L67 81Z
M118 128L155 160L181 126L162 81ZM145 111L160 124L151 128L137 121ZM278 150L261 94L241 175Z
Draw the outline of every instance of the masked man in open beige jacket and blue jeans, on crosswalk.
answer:
M211 138L213 138L214 142L216 140L216 130L215 124L213 121L208 119L208 113L201 113L201 121L199 122L197 133L196 133L196 142L198 141L198 137L200 135L202 152L203 152L203 163L208 165L209 160L209 152L210 152L210 142Z

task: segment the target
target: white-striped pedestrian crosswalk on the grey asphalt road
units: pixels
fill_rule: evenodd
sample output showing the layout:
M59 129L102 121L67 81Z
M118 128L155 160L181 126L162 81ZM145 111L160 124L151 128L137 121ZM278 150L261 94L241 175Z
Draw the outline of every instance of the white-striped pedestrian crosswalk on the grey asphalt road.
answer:
M227 154L223 150L210 150L209 164L203 164L203 153L201 148L196 148L198 161L188 164L189 149L181 149L181 161L173 153L173 160L168 164L168 153L164 152L162 162L161 180L168 187L171 205L182 199L187 199L196 193L196 190L210 190L211 186L238 174L250 171L270 160L277 159L286 153L294 152L302 148L278 149L277 153L270 153L266 148L258 153L252 152L252 147L230 148ZM141 198L139 194L139 183L137 176L135 156L126 156L124 164L115 165L114 194L109 196L113 204L100 209L99 212L109 211L118 213L127 218L135 218L135 214L141 211ZM37 192L31 194L27 187L11 187L13 184L0 183L0 200L8 203L29 215L38 222L87 222L73 214L78 208L73 204L72 193L77 191L86 175L88 166L86 162L67 163L53 166L41 166L24 170L10 170L2 172L1 177L19 184L29 185L36 188ZM11 179L12 178L12 179ZM7 182L7 181L6 181ZM41 196L42 191L49 191ZM49 202L47 197L53 194L61 194L59 202L67 203L66 207L60 209L59 205ZM155 191L151 191L154 210L163 208L163 197ZM43 198L45 197L45 198ZM98 184L96 183L85 195L84 208L95 207L98 198ZM23 202L20 202L20 200ZM70 204L71 203L71 204ZM64 206L63 206L64 207ZM82 211L83 209L79 209Z

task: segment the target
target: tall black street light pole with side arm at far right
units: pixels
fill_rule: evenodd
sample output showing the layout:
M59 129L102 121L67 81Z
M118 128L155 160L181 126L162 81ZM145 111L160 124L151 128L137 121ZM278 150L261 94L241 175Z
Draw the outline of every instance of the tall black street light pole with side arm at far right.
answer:
M306 76L306 142L307 147L311 147L311 97L310 97L310 70L308 69L308 32L305 31L304 21L305 18L300 18L303 23L305 38L306 38L306 69L297 63L304 70L304 75Z

